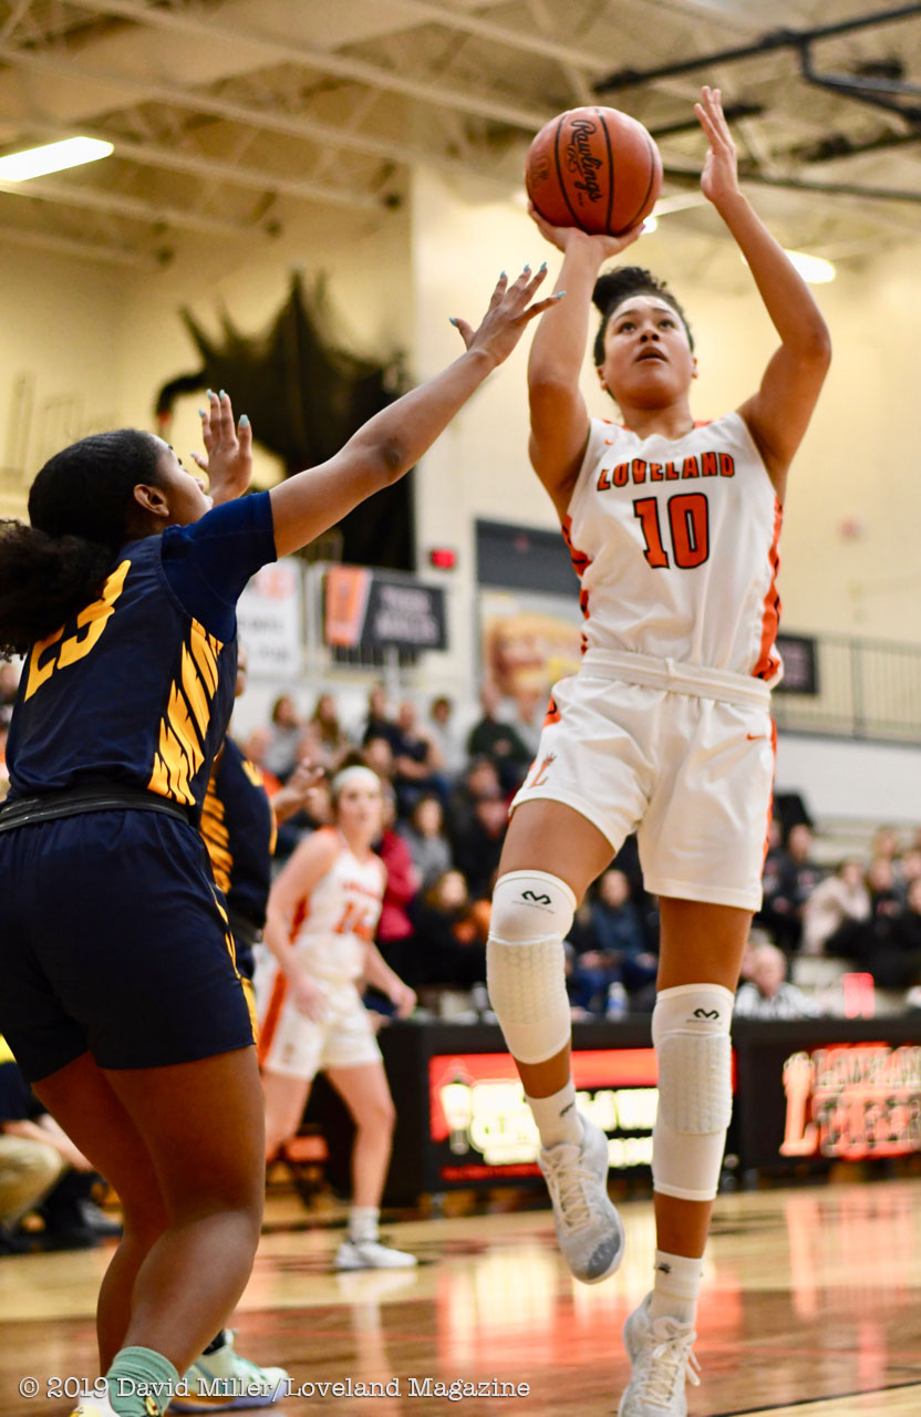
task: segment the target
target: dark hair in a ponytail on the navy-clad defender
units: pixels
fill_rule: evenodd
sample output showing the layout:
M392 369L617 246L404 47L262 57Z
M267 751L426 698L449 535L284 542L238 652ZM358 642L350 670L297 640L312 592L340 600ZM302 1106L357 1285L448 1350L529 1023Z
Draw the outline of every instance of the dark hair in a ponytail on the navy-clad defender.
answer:
M0 657L24 655L99 594L130 540L137 483L157 485L159 445L133 428L50 458L28 493L31 526L0 521Z

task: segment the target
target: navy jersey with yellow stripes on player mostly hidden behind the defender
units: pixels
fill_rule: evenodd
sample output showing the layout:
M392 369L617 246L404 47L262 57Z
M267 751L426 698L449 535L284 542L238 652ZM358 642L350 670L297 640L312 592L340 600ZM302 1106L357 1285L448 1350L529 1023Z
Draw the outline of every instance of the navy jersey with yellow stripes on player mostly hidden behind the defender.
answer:
M230 910L262 930L272 883L275 813L262 774L231 737L208 782L201 835Z

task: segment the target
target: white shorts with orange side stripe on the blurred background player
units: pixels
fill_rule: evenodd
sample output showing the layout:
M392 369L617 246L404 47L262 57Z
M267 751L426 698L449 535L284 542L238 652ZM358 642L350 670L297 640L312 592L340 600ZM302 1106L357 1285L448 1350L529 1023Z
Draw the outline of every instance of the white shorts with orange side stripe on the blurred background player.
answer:
M381 1061L371 1017L351 981L315 979L326 998L326 1013L317 1023L290 1002L285 971L275 959L261 961L254 982L259 1066L268 1073L309 1080L330 1067Z

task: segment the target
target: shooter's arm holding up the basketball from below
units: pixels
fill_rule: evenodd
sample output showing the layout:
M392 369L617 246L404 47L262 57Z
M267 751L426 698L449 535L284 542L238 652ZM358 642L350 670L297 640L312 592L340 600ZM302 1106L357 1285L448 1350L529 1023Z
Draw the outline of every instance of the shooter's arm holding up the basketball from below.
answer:
M563 520L588 442L580 374L592 290L602 264L631 245L642 228L633 227L622 237L589 237L577 227L551 227L533 207L530 213L541 235L563 251L555 289L565 292L565 300L541 316L527 361L531 466Z

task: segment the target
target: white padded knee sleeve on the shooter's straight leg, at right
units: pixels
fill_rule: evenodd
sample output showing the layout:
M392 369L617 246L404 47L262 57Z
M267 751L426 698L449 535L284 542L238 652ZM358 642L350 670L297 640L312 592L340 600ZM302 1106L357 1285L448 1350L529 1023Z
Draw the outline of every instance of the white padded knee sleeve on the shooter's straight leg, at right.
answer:
M659 1061L653 1187L713 1200L733 1115L733 995L718 983L663 989L652 1015Z

